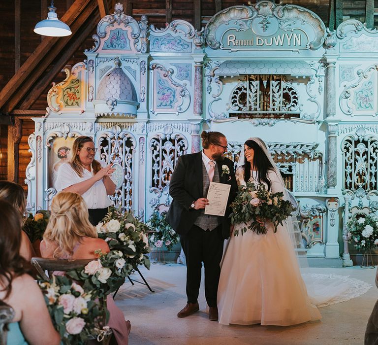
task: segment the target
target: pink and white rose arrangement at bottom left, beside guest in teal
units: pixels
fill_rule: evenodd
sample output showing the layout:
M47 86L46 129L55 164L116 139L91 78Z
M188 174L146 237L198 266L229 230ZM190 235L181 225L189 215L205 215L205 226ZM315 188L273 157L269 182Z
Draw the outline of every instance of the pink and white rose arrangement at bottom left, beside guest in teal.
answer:
M106 333L108 311L95 300L93 291L84 290L66 276L53 276L39 287L63 344L84 345L89 336Z

